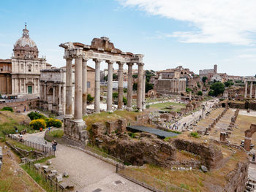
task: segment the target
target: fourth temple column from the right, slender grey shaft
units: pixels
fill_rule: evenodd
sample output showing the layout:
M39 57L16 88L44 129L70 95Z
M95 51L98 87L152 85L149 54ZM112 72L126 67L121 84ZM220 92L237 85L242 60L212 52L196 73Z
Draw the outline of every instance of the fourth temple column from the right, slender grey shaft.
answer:
M108 93L107 93L107 112L112 112L113 101L113 61L106 61L108 63Z

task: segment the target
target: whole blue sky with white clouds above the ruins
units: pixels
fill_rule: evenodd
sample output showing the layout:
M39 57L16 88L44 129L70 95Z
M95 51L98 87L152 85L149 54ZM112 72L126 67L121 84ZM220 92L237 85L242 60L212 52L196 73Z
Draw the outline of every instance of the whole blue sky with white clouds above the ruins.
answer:
M109 37L115 47L145 55L146 69L182 65L256 74L254 1L200 0L1 1L0 58L10 58L27 22L39 55L64 66L61 42L91 45ZM224 4L223 4L224 3ZM89 65L94 66L90 61ZM106 68L102 64L101 69ZM114 67L117 68L117 65Z

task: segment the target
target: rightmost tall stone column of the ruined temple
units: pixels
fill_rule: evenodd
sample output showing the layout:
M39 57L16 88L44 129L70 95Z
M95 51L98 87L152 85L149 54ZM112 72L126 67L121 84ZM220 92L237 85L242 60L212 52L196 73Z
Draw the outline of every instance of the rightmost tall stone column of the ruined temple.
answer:
M138 63L138 84L137 84L137 108L142 108L142 88L143 88L143 63Z

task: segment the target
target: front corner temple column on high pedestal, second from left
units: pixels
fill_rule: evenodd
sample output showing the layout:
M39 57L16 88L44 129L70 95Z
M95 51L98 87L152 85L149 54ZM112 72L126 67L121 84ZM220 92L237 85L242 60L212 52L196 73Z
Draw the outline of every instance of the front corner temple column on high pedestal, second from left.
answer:
M75 55L75 121L83 121L83 50L76 49Z

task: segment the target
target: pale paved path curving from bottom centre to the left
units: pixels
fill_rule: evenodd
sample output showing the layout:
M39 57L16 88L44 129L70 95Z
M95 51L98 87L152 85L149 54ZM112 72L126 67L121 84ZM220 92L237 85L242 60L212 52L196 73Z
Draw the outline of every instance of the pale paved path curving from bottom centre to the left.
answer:
M26 134L24 139L45 144L42 134ZM50 143L48 143L50 145ZM116 174L115 166L105 161L94 158L83 151L57 145L56 158L53 158L52 165L59 172L67 171L68 182L75 185L75 191L92 192L98 191L149 191L131 181ZM121 183L116 181L121 181Z

